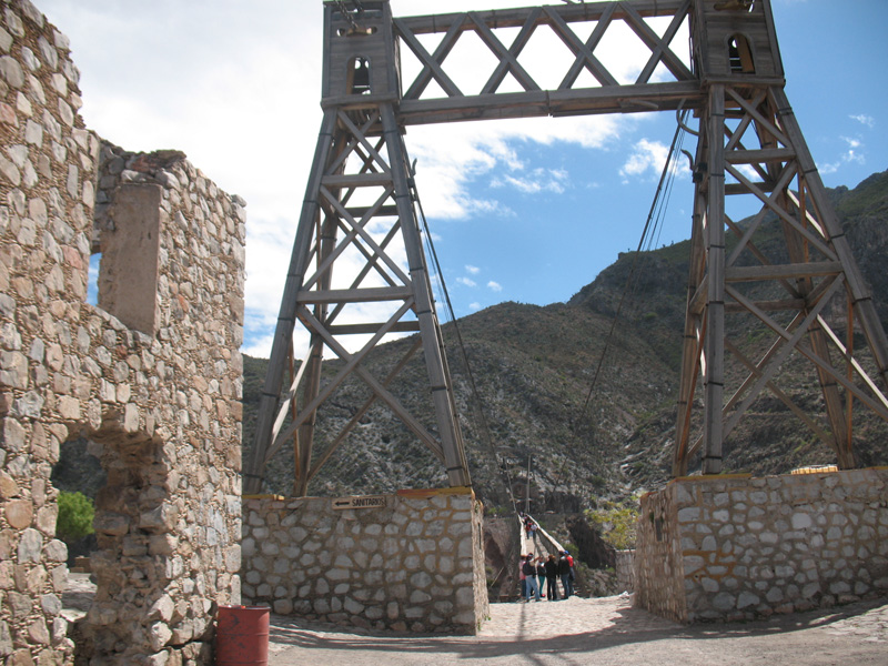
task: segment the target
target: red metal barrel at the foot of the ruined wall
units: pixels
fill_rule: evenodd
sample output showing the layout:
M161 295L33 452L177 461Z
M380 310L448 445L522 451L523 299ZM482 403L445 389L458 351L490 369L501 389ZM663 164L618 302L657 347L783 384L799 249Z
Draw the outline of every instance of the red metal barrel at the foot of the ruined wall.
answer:
M220 606L216 666L268 666L269 616L265 606Z

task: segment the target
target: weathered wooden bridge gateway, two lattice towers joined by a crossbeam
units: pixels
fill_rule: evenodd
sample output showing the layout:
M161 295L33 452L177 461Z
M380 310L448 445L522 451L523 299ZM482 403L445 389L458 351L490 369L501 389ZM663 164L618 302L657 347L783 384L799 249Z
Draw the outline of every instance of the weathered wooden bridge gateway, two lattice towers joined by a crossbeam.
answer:
M652 20L663 23L658 30ZM582 27L589 28L586 39L579 37ZM500 36L514 28L517 33L506 46ZM650 56L634 80L620 81L596 49L609 33L627 29ZM336 0L324 3L324 117L256 440L245 462L244 492L259 492L265 463L294 442L294 493L304 494L375 401L385 403L442 461L451 485L471 483L414 208L406 125L652 110L688 109L699 118L675 473L686 473L698 451L705 473L720 472L724 438L766 387L836 451L841 466L854 465L854 401L888 418L888 401L864 370L866 364L875 367L885 383L888 343L784 94L767 0L624 0L412 18L393 18L387 0ZM677 39L683 30L692 38L689 58L676 51L684 46ZM541 84L521 62L527 43L546 31L573 58L551 85ZM447 69L447 56L470 33L496 61L472 93ZM428 36L440 36L433 50L426 48ZM402 81L401 51L418 62L411 81ZM506 80L521 90L506 92ZM739 218L731 216L728 202L736 200L757 202L760 212L751 224L740 226ZM779 256L757 244L775 226L783 234ZM736 242L728 243L726 232ZM337 284L334 280L343 278L334 275L334 266L347 256L357 273ZM748 284L756 289L743 286ZM785 295L775 297L769 285ZM840 334L825 316L839 293L848 302ZM350 307L366 304L387 304L389 314L372 324L337 323ZM737 313L773 332L774 344L760 357L748 357L750 352L726 336L731 330L726 317ZM297 321L310 332L311 344L299 371L291 373ZM851 344L855 330L867 343L862 355ZM395 332L420 335L397 365L374 376L363 362L386 333ZM357 334L369 339L360 351L349 352L354 345L347 340ZM325 346L342 366L322 382ZM386 389L420 349L436 418L431 430ZM743 373L726 371L726 350ZM838 369L830 350L841 362ZM776 384L790 355L813 364L824 389L826 425ZM372 397L323 452L313 452L316 412L352 374L365 382ZM703 415L695 421L697 412Z

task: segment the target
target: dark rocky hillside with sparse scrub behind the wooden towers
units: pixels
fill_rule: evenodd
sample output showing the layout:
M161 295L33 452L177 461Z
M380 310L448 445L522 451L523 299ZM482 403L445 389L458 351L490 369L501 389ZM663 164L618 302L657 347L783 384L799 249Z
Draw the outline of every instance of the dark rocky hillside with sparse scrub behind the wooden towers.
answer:
M835 190L831 196L888 327L888 172L854 190ZM620 255L568 303L502 303L460 320L477 401L453 325L445 326L471 472L488 506L508 504L507 483L515 495L523 495L528 456L532 508L537 512L576 512L596 498L627 496L668 480L688 248L689 242L677 243L638 256L632 299L592 394L592 377L632 269L630 254ZM403 339L381 346L369 366L380 376L379 369L390 367L410 344L411 339ZM330 365L335 372L335 364ZM264 360L244 363L245 448L252 445L264 366ZM816 382L803 372L807 370L799 367L797 381L790 373L795 397L800 404L817 404L823 398ZM432 427L431 411L422 402L425 371L418 360L393 392ZM330 424L347 421L365 395L359 382L337 392L332 408L319 415L321 445ZM884 422L865 418L856 433L862 463L888 463ZM755 474L834 462L829 450L800 433L783 403L767 397L733 433L725 453L728 470ZM292 474L292 452L281 452L269 470L269 490L290 494ZM374 493L444 483L437 461L387 408L376 406L312 482L310 493Z

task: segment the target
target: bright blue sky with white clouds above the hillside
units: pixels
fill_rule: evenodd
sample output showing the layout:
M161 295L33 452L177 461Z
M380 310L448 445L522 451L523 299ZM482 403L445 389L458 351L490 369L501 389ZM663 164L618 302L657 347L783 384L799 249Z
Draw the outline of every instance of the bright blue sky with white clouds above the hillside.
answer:
M248 201L243 349L268 355L320 128L321 1L36 4L71 40L91 129L129 150L183 150ZM392 0L396 16L526 4ZM887 169L888 2L773 7L787 95L826 184ZM457 316L566 301L634 250L674 131L673 113L411 128ZM658 245L688 238L690 192L680 171Z

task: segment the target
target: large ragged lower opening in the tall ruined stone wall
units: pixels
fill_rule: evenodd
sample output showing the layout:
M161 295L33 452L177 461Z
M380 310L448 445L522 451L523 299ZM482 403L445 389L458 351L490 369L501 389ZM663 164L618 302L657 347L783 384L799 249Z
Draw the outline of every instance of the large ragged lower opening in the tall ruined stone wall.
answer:
M72 623L75 663L128 654L134 628L148 618L152 585L162 585L168 576L165 561L152 557L163 551L158 539L164 529L157 516L169 496L165 474L154 464L160 450L145 433L118 430L83 431L60 448L51 475L54 487L80 492L94 512L94 532L83 546L77 539L65 542L71 573L62 605ZM91 618L93 601L103 608L99 619ZM129 615L102 625L100 616L114 607L125 607Z

